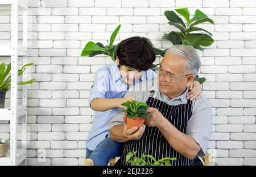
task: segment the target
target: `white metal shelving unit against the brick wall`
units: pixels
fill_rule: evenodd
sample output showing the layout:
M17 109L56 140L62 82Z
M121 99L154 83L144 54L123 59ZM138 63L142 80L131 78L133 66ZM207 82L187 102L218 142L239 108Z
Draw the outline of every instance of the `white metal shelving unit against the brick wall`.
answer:
M23 43L18 45L18 11L23 11ZM27 0L0 0L0 10L11 11L11 45L0 45L0 56L11 58L11 105L0 108L0 120L10 121L10 150L5 157L0 157L2 165L26 165L27 146L27 85L22 86L22 104L18 105L18 57L22 57L23 65L27 64ZM27 71L22 80L26 81ZM18 119L22 119L22 146L17 147Z

